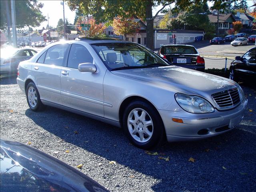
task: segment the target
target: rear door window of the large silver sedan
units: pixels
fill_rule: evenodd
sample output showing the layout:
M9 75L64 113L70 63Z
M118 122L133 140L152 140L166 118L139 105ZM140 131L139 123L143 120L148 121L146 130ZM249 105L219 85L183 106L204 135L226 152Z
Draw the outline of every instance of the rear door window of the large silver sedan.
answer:
M68 44L54 45L47 50L44 64L63 66Z

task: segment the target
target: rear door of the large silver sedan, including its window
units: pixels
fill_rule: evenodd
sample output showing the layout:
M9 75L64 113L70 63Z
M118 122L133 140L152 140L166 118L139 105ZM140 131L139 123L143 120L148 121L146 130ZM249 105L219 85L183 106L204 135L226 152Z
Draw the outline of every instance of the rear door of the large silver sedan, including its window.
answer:
M61 103L60 71L64 65L70 44L58 44L45 51L36 63L32 63L32 72L42 100Z

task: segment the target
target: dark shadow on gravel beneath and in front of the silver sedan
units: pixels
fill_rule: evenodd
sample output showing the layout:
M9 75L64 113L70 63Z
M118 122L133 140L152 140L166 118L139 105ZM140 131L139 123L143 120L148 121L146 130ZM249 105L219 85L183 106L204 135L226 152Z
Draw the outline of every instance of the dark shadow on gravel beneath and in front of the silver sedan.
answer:
M103 122L52 107L43 112L28 109L25 114L65 142L158 179L152 186L156 192L204 191L206 186L215 191L250 191L255 185L255 125L239 125L206 140L166 143L152 150L157 155L150 155L130 144L121 128ZM195 162L188 161L190 157Z

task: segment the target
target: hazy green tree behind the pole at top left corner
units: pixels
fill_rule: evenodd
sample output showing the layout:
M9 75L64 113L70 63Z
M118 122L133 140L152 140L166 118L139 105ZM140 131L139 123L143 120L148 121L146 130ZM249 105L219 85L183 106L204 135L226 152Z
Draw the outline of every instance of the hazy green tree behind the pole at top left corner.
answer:
M7 2L11 13L11 3L10 1ZM46 17L42 15L40 10L44 4L37 0L22 0L14 2L16 9L16 25L18 28L23 28L24 26L37 27L40 26L43 21L46 21ZM5 0L0 1L0 25L1 27L7 27Z

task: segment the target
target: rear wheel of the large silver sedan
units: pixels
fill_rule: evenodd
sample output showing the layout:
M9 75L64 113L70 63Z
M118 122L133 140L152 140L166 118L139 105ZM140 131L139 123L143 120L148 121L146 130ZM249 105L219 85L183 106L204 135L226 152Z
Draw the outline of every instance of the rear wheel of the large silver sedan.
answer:
M31 110L41 111L45 108L44 104L42 104L40 100L40 95L36 85L33 82L30 82L26 88L26 98Z

